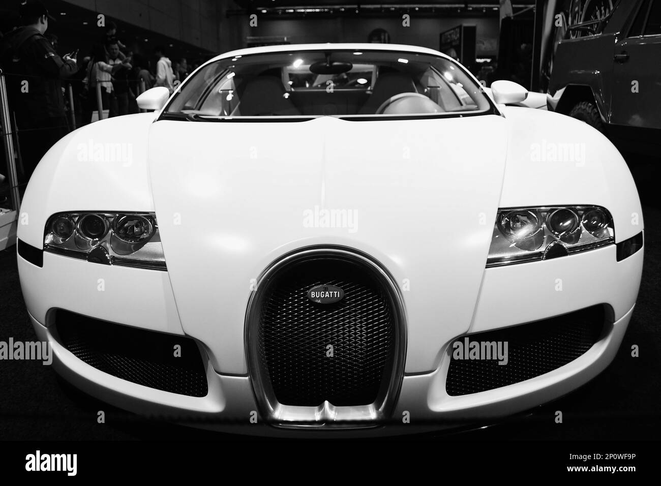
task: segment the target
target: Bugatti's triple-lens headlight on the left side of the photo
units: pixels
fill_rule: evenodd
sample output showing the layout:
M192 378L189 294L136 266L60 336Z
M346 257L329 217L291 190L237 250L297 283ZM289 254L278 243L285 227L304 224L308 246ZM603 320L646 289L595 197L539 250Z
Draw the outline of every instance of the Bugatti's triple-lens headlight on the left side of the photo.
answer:
M93 263L167 270L156 216L149 213L54 214L44 251Z

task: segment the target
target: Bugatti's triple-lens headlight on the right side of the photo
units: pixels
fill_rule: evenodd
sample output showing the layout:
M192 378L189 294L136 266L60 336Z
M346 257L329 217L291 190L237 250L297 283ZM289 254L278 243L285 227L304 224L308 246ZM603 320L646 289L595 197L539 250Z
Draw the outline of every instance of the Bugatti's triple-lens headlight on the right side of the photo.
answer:
M613 218L598 206L501 209L486 266L548 260L614 242Z

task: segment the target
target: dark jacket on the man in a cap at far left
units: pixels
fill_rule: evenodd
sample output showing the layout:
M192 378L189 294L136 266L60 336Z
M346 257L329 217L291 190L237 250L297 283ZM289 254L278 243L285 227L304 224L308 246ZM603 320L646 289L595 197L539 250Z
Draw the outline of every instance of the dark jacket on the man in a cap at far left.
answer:
M10 108L18 120L32 125L64 116L61 79L73 75L78 67L74 60L63 61L36 28L9 32L0 46L0 63Z

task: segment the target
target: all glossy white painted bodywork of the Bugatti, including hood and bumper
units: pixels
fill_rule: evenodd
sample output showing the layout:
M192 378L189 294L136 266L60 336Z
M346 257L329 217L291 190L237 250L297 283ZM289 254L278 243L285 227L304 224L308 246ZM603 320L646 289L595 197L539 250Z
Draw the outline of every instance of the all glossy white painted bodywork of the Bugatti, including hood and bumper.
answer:
M421 417L500 416L566 393L614 356L635 304L642 251L620 263L614 247L606 247L485 270L496 210L600 205L613 215L616 241L623 241L642 231L641 205L621 155L596 130L543 110L502 111L504 116L293 123L153 122L149 113L76 130L37 167L20 208L18 237L41 249L46 220L56 212L155 211L168 271L48 253L38 268L19 257L36 332L51 339L44 327L48 310L62 307L189 335L208 359L210 395L202 399L119 380L57 343L56 369L127 409L243 417L255 409L244 350L251 289L270 263L290 251L341 245L368 253L403 286L407 376L398 407ZM120 156L110 157L106 149L116 143L124 144L115 147ZM315 214L324 209L344 210L351 219L344 227L315 225ZM104 292L97 290L98 278ZM557 278L563 292L555 291ZM513 297L531 304L502 304ZM578 360L495 391L444 396L453 338L596 303L611 305L620 320ZM129 310L139 304L137 313Z

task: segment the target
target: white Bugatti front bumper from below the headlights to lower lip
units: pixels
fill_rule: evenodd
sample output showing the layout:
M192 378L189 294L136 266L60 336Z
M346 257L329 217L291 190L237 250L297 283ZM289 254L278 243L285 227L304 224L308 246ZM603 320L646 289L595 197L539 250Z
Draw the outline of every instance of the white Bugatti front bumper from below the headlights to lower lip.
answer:
M446 393L451 361L448 349L457 337L449 335L446 345L436 350L438 358L433 370L408 372L403 376L391 426L379 431L360 429L342 433L410 433L498 419L580 387L605 369L621 344L638 292L642 255L639 251L616 262L615 245L611 245L552 261L486 269L467 332L537 321L595 304L607 304L612 309L608 332L582 356L552 372L525 382L459 396ZM209 343L198 340L208 394L191 397L101 372L69 352L52 333L50 315L53 309L61 308L141 329L184 335L167 272L100 266L49 253L44 254L44 268L19 257L19 269L38 338L52 343L56 371L83 391L123 409L187 425L243 434L314 433L265 426L259 418L255 423L258 405L249 376L223 374L215 369ZM71 282L68 286L58 284L63 275ZM110 302L118 304L112 317L108 315L108 297ZM518 305L520 302L526 305ZM243 323L238 325L243 327ZM414 352L409 344L407 354Z

